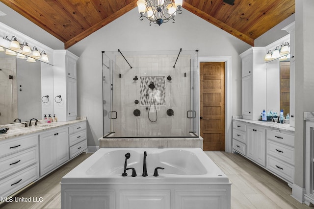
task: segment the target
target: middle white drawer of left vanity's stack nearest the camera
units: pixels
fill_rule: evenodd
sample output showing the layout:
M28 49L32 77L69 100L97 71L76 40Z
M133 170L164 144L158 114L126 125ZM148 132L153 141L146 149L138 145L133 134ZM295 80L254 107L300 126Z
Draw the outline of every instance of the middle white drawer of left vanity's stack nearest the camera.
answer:
M37 146L0 158L0 179L34 163L38 163Z

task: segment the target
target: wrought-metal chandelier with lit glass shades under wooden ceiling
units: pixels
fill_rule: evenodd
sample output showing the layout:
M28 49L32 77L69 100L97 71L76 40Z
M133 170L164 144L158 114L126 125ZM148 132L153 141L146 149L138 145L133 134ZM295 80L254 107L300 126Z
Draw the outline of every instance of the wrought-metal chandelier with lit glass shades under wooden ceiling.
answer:
M162 24L172 20L175 23L176 13L182 14L182 1L183 0L138 0L138 12L141 15L141 21L146 18L152 23ZM145 16L146 14L146 16Z

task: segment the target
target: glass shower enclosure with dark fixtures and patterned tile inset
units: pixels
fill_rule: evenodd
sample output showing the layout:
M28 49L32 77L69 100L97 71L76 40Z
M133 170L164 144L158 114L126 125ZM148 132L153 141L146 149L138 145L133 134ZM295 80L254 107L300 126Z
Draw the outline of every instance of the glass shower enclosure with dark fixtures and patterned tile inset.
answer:
M199 137L198 50L102 56L104 138Z

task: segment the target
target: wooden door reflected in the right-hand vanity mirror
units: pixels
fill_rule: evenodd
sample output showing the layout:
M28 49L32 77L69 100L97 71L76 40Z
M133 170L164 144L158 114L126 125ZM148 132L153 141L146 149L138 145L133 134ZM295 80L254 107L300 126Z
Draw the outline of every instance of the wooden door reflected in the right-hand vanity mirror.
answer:
M290 112L290 62L280 62L280 110Z

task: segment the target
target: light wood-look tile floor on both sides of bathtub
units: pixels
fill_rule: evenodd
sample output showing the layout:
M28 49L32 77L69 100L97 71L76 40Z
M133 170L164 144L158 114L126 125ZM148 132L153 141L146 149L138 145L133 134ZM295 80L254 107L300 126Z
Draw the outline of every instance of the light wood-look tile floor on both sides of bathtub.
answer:
M231 186L232 209L310 209L291 195L291 188L274 175L246 158L225 152L206 154L227 174ZM0 205L0 209L60 209L61 178L91 153L82 153L50 175L30 186L19 197L42 197L43 202L13 202Z

